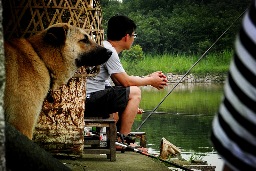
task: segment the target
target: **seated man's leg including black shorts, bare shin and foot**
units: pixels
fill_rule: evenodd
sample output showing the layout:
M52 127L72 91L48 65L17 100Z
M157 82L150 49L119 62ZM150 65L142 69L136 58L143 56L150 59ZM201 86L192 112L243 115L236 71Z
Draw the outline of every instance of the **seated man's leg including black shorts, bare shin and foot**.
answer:
M109 117L110 113L119 111L119 121L121 122L120 133L127 135L130 133L133 121L136 117L140 104L141 92L137 86L122 87L115 86L93 93L86 98L84 116L103 116ZM101 110L97 110L101 107ZM121 112L123 111L123 112ZM119 138L119 137L118 137ZM121 141L121 139L118 139ZM131 144L131 146L138 146ZM121 147L116 146L116 149ZM122 149L122 148L121 148ZM146 148L138 148L142 151L148 151Z

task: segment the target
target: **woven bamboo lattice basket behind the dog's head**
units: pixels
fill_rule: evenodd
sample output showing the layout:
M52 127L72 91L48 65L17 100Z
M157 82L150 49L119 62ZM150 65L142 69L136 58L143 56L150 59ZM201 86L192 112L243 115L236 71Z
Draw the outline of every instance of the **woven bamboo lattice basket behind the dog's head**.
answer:
M84 29L102 45L104 31L99 0L5 0L4 38L28 38L56 23ZM96 77L100 66L83 67L74 77Z

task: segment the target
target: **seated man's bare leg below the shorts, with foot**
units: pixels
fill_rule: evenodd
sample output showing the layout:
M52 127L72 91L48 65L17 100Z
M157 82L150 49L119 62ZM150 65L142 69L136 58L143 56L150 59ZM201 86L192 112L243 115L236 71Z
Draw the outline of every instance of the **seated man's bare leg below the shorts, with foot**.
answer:
M129 94L129 101L124 109L124 112L120 115L120 133L124 135L128 135L131 132L133 121L136 117L141 99L141 91L140 88L137 86L130 87L130 94ZM121 141L121 138L117 138L118 141ZM135 147L138 146L137 144L130 144L131 146ZM116 147L121 148L121 147ZM138 148L144 152L147 152L148 149L146 148Z

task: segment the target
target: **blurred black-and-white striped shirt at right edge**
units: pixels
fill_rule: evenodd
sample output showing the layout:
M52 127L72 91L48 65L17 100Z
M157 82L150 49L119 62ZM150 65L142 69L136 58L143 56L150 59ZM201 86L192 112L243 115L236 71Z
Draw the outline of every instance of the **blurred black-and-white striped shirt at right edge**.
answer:
M256 170L256 1L244 16L211 140L233 170Z

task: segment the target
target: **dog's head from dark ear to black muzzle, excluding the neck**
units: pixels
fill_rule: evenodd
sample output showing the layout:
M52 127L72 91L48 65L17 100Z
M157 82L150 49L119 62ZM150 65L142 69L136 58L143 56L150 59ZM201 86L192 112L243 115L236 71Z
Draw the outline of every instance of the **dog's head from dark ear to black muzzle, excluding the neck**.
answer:
M76 66L97 66L110 58L112 51L92 42L83 29L66 23L55 24L45 30L44 41L62 47L61 52L74 60Z

